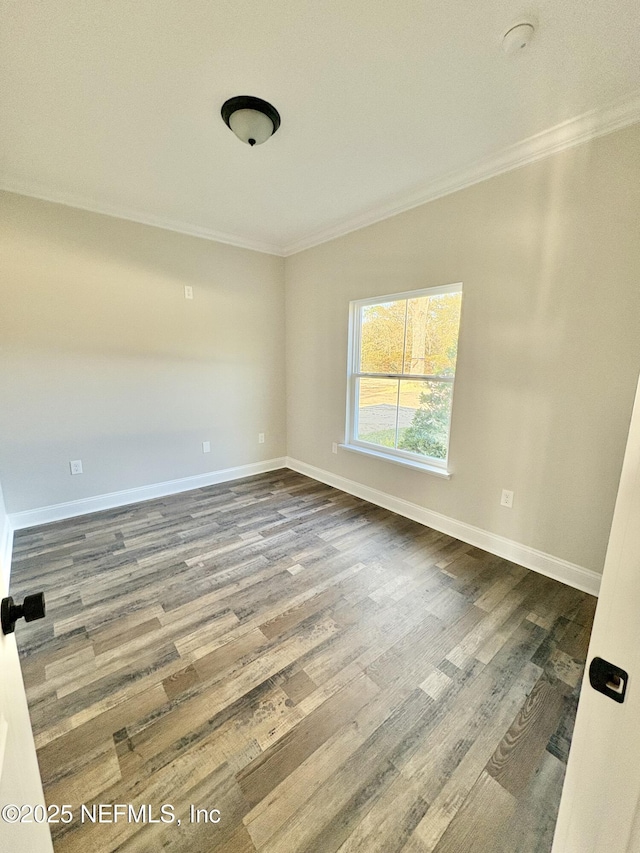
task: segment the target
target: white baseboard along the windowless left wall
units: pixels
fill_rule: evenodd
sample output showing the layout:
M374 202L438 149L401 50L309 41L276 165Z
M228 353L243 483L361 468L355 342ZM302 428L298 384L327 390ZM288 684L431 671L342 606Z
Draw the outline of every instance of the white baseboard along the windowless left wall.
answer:
M211 471L207 474L196 474L194 477L181 477L179 480L167 480L164 483L153 483L150 486L139 486L135 489L124 489L106 495L95 495L77 501L67 501L53 506L14 512L10 513L9 522L13 530L22 530L25 527L36 527L39 524L49 524L51 521L61 521L65 518L75 518L78 515L100 512L103 509L115 509L140 501L175 495L179 492L189 492L192 489L201 489L204 486L213 486L216 483L226 483L229 480L241 480L243 477L265 474L267 471L276 471L278 468L285 467L284 458L268 459L266 462L253 462L250 465L239 465L235 468L223 468L221 471Z

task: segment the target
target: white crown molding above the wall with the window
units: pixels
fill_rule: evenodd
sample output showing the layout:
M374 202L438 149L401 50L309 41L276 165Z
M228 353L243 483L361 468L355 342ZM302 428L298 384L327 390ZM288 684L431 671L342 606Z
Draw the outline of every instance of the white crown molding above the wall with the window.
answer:
M484 157L465 169L458 169L413 187L406 193L388 198L381 204L370 207L356 216L346 217L328 228L310 232L305 237L286 245L282 253L285 257L295 255L297 252L343 237L352 231L359 231L361 228L389 219L398 213L404 213L406 210L435 201L437 198L471 187L504 172L510 172L520 166L535 163L551 154L557 154L591 139L621 130L636 122L640 122L640 92L637 91L624 100L602 109L590 110L503 148L498 153Z

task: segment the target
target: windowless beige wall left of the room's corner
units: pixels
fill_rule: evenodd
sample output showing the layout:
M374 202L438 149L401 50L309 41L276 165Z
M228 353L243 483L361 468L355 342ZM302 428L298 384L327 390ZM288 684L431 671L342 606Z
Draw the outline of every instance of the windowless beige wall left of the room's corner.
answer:
M282 258L9 193L0 222L9 512L285 453Z

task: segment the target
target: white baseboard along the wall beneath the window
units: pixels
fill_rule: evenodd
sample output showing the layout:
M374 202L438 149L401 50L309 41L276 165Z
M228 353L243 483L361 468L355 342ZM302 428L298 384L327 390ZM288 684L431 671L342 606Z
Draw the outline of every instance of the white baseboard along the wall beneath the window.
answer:
M601 576L591 569L569 563L567 560L554 557L552 554L545 554L544 551L538 551L528 545L522 545L512 539L506 539L504 536L498 536L496 533L490 533L488 530L466 524L464 521L457 521L455 518L441 515L439 512L426 509L402 498L396 498L378 489L363 486L361 483L340 477L338 474L332 474L322 468L307 465L306 462L300 462L298 459L287 457L286 466L299 474L311 477L313 480L319 480L321 483L326 483L328 486L348 492L350 495L369 501L369 503L384 507L384 509L391 510L391 512L405 518L424 524L426 527L432 527L434 530L446 533L448 536L454 536L462 542L482 548L497 557L518 563L526 569L532 569L534 572L566 583L582 592L598 595Z

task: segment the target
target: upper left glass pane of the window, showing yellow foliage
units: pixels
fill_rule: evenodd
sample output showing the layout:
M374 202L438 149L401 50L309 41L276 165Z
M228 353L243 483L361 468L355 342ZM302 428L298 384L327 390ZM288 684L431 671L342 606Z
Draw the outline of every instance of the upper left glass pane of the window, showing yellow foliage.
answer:
M401 299L362 309L361 373L402 373L406 305Z

